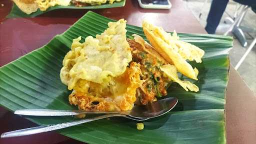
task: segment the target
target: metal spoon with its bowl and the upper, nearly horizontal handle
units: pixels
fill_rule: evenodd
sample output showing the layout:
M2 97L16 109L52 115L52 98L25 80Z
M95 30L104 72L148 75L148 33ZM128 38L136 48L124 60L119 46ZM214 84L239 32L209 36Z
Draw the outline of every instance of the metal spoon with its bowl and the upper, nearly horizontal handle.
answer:
M146 105L134 105L130 111L86 111L86 110L54 110L54 109L19 109L14 114L34 116L64 116L77 114L123 114L133 118L152 118L160 116L172 109L177 98L168 97L153 101Z

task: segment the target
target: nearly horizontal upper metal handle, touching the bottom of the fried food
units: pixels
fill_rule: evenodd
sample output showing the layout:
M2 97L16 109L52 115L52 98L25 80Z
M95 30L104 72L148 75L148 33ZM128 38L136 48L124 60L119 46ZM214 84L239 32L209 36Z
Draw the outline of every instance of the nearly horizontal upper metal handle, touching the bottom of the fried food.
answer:
M107 111L86 111L86 110L54 110L54 109L19 109L14 114L20 115L34 115L34 116L64 116L64 115L77 115L77 114L128 114L124 112L107 112Z

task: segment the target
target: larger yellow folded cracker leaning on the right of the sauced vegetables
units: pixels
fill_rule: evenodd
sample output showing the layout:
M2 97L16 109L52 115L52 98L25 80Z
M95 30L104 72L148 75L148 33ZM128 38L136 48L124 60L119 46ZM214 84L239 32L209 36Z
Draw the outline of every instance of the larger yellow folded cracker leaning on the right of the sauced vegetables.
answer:
M179 40L176 32L171 35L161 27L143 21L143 31L155 50L185 76L197 80L198 70L186 61L201 62L204 51L193 44Z

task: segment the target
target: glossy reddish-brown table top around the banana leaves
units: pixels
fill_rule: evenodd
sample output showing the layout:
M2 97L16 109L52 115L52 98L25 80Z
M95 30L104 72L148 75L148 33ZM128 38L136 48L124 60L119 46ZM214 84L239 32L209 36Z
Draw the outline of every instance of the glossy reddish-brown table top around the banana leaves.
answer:
M206 33L182 0L171 0L171 9L143 9L137 0L126 0L124 7L92 10L112 19L125 18L128 24L140 26L143 19L162 26L167 31ZM47 43L56 34L64 32L86 9L58 9L34 18L4 17L11 9L10 0L0 4L0 66L17 59ZM162 22L164 21L164 22ZM31 36L32 35L32 36ZM254 143L256 141L256 97L230 66L226 92L226 135L228 143ZM11 124L10 124L11 123ZM35 126L20 116L0 107L0 133ZM0 139L0 143L81 143L56 132L32 136Z

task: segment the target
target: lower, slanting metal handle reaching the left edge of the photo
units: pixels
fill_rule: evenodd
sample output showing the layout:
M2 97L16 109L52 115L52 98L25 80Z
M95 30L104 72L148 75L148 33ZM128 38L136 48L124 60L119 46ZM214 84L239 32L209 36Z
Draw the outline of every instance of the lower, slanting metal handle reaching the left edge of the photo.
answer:
M105 114L105 115L100 115L100 116L97 116L97 117L81 119L81 120L76 120L76 121L70 121L70 122L65 122L65 123L19 129L19 130L4 132L4 133L1 134L1 138L3 138L3 137L14 137L14 136L23 136L23 135L41 133L41 132L46 132L46 131L52 131L52 130L61 129L61 128L65 128L65 127L70 127L70 126L73 126L73 125L78 125L78 124L90 122L90 121L93 121L93 120L98 120L98 119L102 119L102 118L106 118L106 117L112 117L112 116L125 116L125 115L122 115L122 114Z

